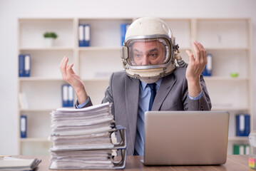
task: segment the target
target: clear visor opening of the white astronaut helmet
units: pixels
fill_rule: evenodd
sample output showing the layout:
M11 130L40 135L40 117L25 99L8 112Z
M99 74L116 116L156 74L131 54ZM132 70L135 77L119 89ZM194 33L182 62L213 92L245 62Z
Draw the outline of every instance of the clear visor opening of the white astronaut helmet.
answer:
M130 66L158 66L170 60L170 43L165 38L143 38L128 41Z

